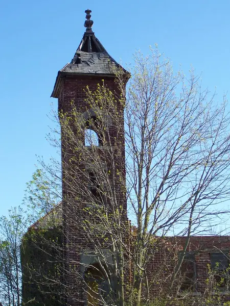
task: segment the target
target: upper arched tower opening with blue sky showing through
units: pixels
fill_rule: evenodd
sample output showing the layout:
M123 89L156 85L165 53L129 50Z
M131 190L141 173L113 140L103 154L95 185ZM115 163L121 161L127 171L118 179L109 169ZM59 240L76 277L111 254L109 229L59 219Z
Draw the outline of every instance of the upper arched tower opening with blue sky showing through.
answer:
M89 117L85 122L85 145L101 146L102 137L99 135L98 121L96 116ZM95 132L95 130L97 132Z

